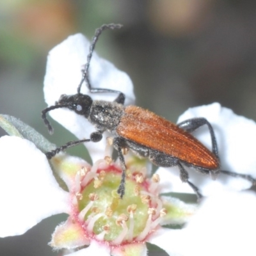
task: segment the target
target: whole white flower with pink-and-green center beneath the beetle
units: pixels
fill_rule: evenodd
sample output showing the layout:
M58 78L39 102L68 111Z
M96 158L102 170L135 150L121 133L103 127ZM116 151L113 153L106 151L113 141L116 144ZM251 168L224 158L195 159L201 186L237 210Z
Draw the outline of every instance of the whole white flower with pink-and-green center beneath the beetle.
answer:
M49 53L44 87L49 106L63 93L77 92L88 49L88 41L82 35L74 35ZM127 96L126 104L133 102L129 77L95 53L90 75L93 86L120 90ZM81 92L89 94L85 84ZM104 100L116 97L99 94L91 96ZM95 131L83 116L68 109L55 109L51 116L79 139L89 138ZM179 122L194 116L207 118L216 131L221 168L255 177L255 123L219 104L190 109ZM200 140L211 148L205 134L209 134L207 129L198 136L203 136ZM47 216L66 212L68 220L56 228L51 246L81 249L71 252L70 256L110 253L144 256L147 255L146 242L156 244L169 255L255 255L252 232L256 227L256 196L253 192L234 192L234 189L248 188L250 182L222 175L211 180L189 170L191 182L199 186L203 195L211 195L195 214L194 205L159 196L175 190L191 193L188 184L181 183L177 168L159 168L157 175L149 180L145 163L129 157L126 159L127 188L124 199L120 200L115 190L121 172L109 157L104 159L105 138L100 143L85 145L92 154L93 166L65 154L51 160L53 171L67 184L67 192L60 188L45 155L33 143L17 137L0 138L0 202L3 206L0 236L23 234ZM232 191L226 191L228 189ZM184 228L161 227L188 219Z

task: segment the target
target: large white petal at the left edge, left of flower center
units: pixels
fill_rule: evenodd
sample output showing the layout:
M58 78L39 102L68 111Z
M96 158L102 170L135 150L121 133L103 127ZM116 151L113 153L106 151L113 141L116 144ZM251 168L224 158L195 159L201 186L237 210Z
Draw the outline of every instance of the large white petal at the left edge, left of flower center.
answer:
M23 234L44 218L68 211L68 193L33 143L3 136L0 156L0 237Z

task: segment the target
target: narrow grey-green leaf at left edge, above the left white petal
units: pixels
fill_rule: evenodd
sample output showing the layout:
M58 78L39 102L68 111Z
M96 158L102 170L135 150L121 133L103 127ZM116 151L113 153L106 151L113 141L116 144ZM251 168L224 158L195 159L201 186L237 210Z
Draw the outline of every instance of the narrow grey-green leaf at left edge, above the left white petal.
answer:
M14 116L0 115L0 127L10 136L18 136L32 141L44 153L56 148L56 145L45 139L42 134Z

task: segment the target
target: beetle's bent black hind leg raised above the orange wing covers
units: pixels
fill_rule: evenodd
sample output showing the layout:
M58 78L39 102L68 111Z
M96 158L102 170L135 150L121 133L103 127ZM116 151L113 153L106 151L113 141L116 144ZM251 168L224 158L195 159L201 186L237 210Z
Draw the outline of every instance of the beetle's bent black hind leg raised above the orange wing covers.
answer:
M207 125L209 132L211 134L211 140L212 140L212 153L219 159L219 154L218 154L218 146L216 142L216 137L214 134L214 131L212 129L212 125L205 119L204 117L200 118L191 118L188 120L185 120L179 124L177 124L181 129L187 132L193 132L202 125Z

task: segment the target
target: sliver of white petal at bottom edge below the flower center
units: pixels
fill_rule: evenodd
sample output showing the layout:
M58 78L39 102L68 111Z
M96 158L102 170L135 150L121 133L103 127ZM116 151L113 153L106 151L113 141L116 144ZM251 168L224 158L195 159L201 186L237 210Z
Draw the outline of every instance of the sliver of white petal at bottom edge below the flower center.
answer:
M90 246L87 248L78 250L77 252L73 252L68 254L68 256L95 256L95 255L100 255L100 256L109 256L110 255L110 250L107 246L104 244L99 244L95 241L92 241Z

